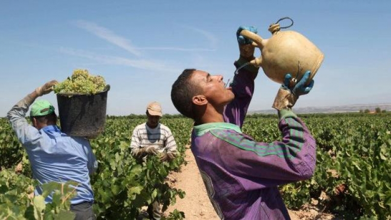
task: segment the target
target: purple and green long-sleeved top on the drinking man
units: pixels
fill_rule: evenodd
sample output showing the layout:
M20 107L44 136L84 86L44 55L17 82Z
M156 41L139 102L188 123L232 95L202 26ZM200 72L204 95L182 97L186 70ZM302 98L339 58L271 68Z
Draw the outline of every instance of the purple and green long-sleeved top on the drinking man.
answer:
M277 186L308 179L315 170L315 140L292 111L279 112L282 141L257 142L241 132L257 72L242 68L235 76L235 99L225 108L225 123L198 125L192 133L195 161L224 220L290 219Z

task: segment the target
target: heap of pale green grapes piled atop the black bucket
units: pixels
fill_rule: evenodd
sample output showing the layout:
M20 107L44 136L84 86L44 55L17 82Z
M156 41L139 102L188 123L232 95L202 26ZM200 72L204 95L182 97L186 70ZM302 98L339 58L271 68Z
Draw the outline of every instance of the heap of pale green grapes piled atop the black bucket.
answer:
M92 76L87 69L75 69L71 77L54 87L55 93L96 94L106 86L102 76Z

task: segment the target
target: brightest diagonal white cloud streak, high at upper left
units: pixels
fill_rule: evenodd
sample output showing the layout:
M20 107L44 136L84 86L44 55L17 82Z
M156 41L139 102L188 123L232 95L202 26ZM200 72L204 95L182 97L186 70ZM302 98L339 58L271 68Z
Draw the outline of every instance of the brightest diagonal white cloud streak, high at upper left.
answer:
M133 45L131 45L127 39L116 35L114 32L112 32L111 30L109 30L105 27L99 26L93 22L87 22L87 21L83 21L83 20L77 21L76 26L78 26L79 28L85 29L88 32L90 32L90 33L92 33L102 39L105 39L106 41L108 41L112 44L115 44L115 45L129 51L130 53L136 55L136 56L141 55L141 52L139 50L137 50Z

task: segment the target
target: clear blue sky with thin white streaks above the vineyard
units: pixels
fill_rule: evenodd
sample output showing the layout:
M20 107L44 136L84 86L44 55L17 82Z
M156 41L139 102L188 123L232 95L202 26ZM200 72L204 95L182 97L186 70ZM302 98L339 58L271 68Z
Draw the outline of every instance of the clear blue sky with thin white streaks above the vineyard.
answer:
M75 68L105 77L110 115L143 114L151 101L177 113L170 91L184 68L231 78L239 25L269 38L269 24L285 16L325 54L295 107L391 102L389 0L1 0L0 117ZM279 85L262 71L255 83L250 110L270 109ZM55 94L43 98L57 106Z

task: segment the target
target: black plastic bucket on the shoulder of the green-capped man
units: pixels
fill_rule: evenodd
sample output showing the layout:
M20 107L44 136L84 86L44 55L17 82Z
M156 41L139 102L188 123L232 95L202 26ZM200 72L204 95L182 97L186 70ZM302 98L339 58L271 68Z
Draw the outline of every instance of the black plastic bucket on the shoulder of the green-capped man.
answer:
M105 130L107 85L94 95L58 93L61 131L69 136L96 137Z

